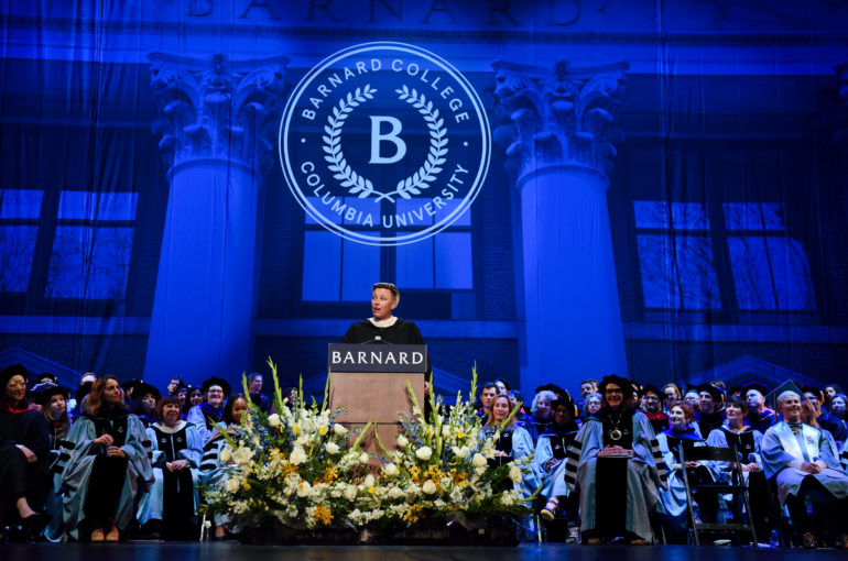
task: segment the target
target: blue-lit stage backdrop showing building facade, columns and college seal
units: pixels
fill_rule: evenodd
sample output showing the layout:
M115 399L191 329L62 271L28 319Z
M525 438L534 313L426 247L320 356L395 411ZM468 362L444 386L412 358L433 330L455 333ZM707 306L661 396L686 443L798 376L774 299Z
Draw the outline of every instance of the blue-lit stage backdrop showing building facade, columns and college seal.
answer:
M845 2L0 6L0 365L846 382Z

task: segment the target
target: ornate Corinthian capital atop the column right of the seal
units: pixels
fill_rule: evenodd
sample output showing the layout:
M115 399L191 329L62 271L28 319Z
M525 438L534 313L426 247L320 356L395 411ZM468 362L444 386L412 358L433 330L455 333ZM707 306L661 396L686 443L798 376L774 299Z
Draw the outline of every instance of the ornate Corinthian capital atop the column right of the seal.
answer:
M607 174L622 139L615 127L624 98L627 63L536 68L499 61L496 95L509 116L494 131L518 160L519 177L548 165L577 164Z

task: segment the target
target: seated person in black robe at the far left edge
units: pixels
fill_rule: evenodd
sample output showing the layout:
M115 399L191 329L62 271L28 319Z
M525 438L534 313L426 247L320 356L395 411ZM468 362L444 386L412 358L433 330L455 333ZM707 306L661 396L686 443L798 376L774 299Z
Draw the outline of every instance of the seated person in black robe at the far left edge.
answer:
M48 468L47 424L41 413L29 408L26 369L9 366L0 373L0 537L12 524L24 527L23 539L37 537Z

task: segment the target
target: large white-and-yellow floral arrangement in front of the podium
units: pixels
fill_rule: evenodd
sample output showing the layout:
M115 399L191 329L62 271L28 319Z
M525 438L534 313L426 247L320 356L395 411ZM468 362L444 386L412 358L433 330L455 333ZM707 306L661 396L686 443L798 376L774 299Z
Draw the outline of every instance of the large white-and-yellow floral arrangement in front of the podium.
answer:
M409 387L413 414L401 414L398 449L388 450L374 432L382 453L369 454L361 443L371 424L350 431L336 421L345 409L327 407L329 377L322 406L314 399L305 404L302 392L284 405L276 365L270 359L269 365L275 413L251 404L235 433L221 431L228 477L205 488L206 512L229 513L240 526L273 517L284 527L309 530L385 530L427 520L456 520L470 529L488 517L530 513L513 490L529 466L489 466L498 431L483 431L471 407L476 372L470 400L457 394L446 413L442 399L431 395L426 418Z

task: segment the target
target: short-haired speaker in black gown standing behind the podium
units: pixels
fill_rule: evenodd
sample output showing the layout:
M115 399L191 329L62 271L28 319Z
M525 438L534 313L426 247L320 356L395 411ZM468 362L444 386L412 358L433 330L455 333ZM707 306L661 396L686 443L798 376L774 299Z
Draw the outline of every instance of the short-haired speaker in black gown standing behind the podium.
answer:
M343 343L424 344L418 327L392 316L401 294L391 283L377 283L371 287L372 318L357 321L345 333Z

